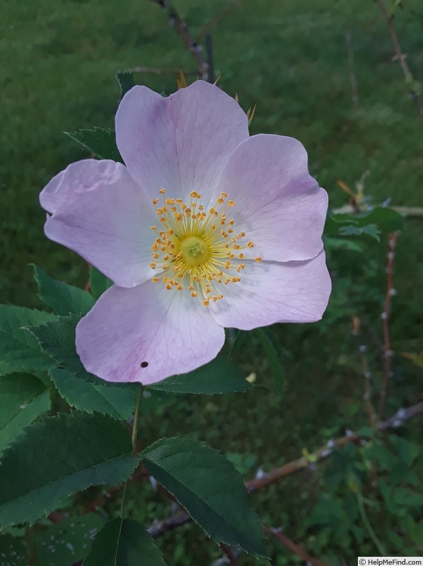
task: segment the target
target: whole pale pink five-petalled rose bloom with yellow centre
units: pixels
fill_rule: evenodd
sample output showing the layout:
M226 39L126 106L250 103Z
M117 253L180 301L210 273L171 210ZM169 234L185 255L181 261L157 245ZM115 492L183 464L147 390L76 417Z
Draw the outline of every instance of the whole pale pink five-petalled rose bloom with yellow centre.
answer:
M116 115L125 165L83 159L42 190L48 238L110 277L76 327L87 371L161 381L206 364L224 328L319 320L328 195L291 137L250 137L241 107L197 81L134 86Z

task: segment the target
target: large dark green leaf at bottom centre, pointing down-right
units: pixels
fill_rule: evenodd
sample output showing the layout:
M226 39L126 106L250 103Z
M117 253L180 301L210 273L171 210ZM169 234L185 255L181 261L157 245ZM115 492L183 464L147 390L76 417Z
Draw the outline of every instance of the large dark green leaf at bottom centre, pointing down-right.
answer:
M144 465L216 543L266 557L260 519L241 475L219 451L187 438L164 438L141 453Z

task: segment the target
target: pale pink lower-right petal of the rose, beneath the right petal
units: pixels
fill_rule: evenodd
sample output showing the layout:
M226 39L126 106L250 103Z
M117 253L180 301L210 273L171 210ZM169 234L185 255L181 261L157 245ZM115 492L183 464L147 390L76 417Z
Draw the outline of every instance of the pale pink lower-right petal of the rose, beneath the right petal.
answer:
M324 252L304 262L245 262L241 282L228 284L209 308L216 323L241 330L311 323L322 318L330 288Z

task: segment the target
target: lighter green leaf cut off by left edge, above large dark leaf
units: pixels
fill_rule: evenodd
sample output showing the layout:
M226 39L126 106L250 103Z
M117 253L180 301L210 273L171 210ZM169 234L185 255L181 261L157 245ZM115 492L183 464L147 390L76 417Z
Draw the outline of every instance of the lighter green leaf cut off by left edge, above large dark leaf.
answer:
M50 409L50 393L30 374L0 377L0 453L38 416Z

